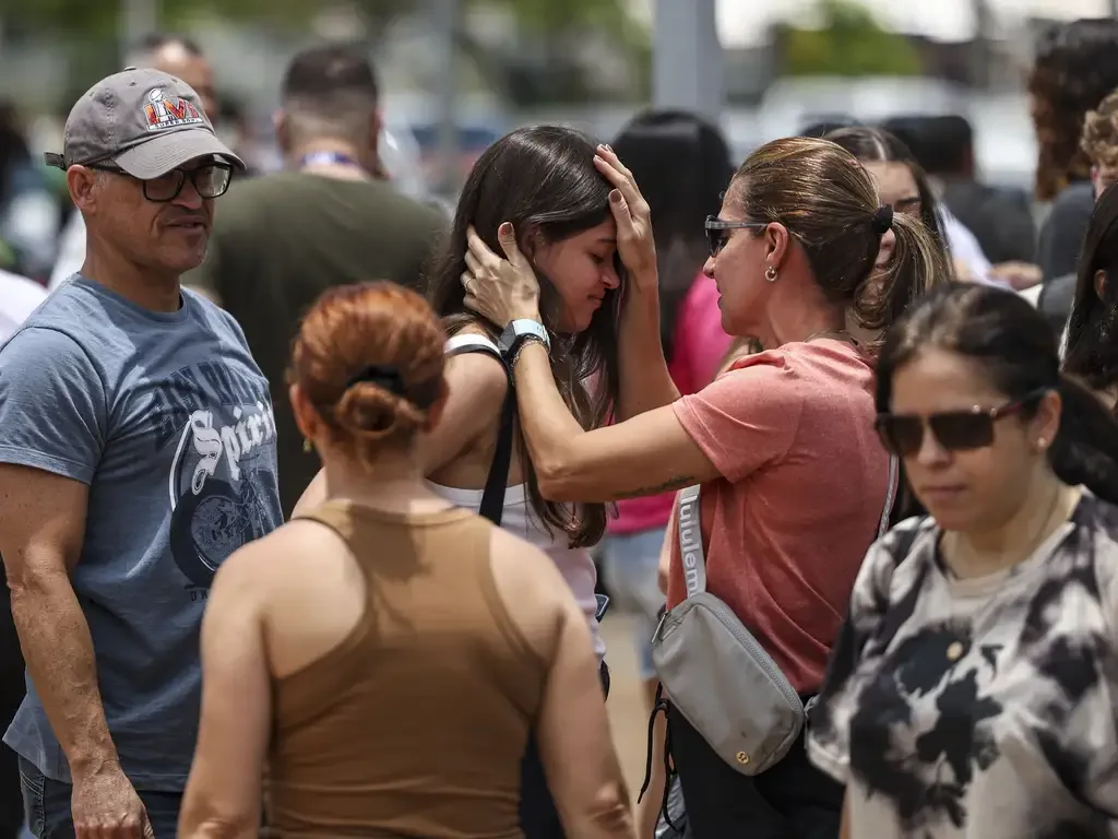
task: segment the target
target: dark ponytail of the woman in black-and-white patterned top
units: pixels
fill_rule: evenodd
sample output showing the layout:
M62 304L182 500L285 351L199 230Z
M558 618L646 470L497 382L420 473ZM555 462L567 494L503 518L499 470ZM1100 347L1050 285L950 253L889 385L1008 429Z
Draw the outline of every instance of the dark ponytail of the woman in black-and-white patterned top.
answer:
M1052 442L1052 471L1067 484L1087 487L1118 505L1118 421L1093 393L1067 375L1060 376L1063 412Z

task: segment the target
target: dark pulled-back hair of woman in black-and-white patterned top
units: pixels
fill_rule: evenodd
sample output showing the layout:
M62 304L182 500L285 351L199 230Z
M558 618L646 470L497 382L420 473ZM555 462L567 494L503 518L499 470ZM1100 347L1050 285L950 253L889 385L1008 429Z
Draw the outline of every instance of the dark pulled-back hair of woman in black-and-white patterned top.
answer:
M1049 449L1052 470L1118 503L1118 422L1086 387L1060 373L1048 321L1021 295L988 285L950 283L913 305L887 336L878 357L877 408L892 404L893 376L927 347L974 361L1007 399L1043 388L1063 400L1060 431ZM1027 418L1036 404L1026 404Z

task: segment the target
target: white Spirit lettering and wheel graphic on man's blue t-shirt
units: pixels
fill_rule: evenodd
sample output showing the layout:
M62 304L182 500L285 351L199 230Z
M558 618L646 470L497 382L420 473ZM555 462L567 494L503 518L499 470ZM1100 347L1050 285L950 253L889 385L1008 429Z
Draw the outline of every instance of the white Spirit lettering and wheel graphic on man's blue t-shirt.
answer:
M150 415L159 450L173 445L171 556L191 587L208 590L234 550L283 524L269 500L277 492L271 399L263 380L206 361L172 374Z

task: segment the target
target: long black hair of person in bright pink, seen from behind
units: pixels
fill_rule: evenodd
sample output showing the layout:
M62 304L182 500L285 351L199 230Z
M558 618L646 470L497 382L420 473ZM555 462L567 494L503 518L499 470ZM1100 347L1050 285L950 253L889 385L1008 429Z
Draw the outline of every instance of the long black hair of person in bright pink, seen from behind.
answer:
M660 340L672 358L680 305L707 262L703 219L733 176L721 131L689 111L644 111L613 141L652 213L660 268Z

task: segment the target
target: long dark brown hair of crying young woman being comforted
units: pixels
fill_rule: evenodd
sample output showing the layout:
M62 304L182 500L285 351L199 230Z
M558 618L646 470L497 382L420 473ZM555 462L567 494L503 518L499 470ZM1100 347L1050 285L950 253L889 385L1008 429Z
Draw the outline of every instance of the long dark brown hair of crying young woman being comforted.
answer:
M505 134L474 163L458 198L446 253L430 276L428 300L444 318L448 334L467 323L479 323L493 337L499 330L466 310L459 277L466 270L466 228L496 254L503 254L496 229L511 221L523 253L532 244L561 242L609 217L613 187L594 167L596 144L567 128L541 125ZM617 323L626 277L619 289L606 293L590 326L577 334L558 331L561 301L558 291L540 275L540 315L551 336L551 373L567 407L584 428L605 424L618 393ZM593 392L587 383L594 383ZM541 494L527 446L521 445L532 509L550 532L567 532L571 547L594 545L605 534L606 506L567 505Z

